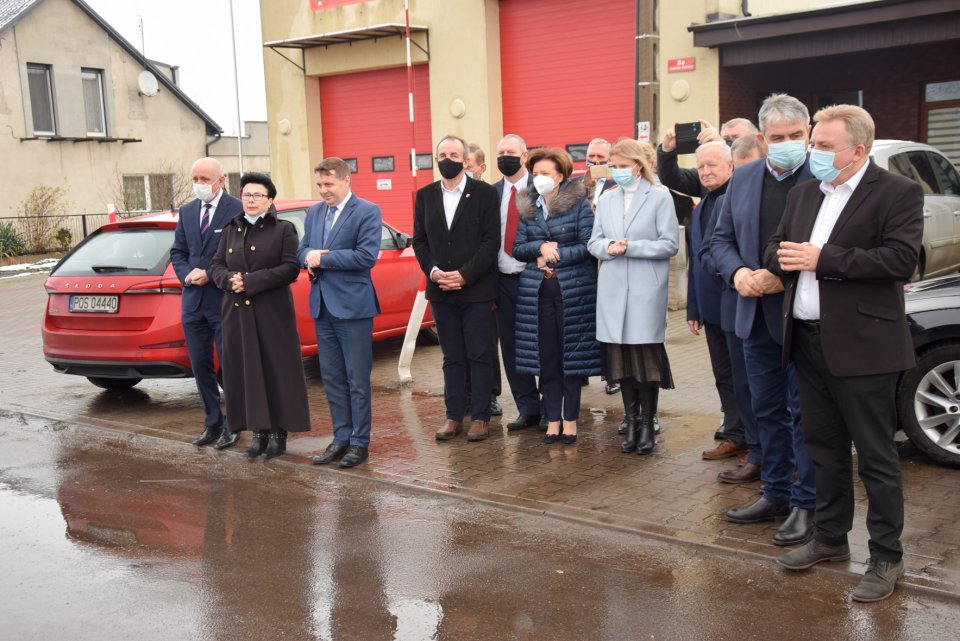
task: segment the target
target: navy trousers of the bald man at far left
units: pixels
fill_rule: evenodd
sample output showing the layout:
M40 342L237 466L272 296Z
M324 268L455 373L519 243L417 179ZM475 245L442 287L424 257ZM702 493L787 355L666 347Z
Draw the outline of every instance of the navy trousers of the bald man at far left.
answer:
M205 310L200 307L192 312L183 312L181 320L183 336L187 341L187 354L190 356L190 368L193 370L200 403L203 405L203 424L205 427L226 427L227 421L220 410L217 370L213 364L214 346L217 359L223 362L220 310Z

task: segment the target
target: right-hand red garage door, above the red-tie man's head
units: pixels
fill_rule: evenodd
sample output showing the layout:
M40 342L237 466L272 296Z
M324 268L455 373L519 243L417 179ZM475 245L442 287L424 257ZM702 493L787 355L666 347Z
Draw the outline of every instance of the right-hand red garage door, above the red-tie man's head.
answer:
M500 0L503 131L565 148L632 136L634 0Z

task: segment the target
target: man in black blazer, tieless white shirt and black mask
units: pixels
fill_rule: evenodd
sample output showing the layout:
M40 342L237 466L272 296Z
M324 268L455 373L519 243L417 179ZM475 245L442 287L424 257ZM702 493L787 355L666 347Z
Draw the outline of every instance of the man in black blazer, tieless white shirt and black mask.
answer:
M463 430L466 368L470 368L472 422L468 441L490 435L493 307L497 297L500 247L499 200L490 185L469 178L463 169L467 143L445 136L437 145L441 180L417 191L413 249L427 277L427 300L443 352L447 420L439 441Z

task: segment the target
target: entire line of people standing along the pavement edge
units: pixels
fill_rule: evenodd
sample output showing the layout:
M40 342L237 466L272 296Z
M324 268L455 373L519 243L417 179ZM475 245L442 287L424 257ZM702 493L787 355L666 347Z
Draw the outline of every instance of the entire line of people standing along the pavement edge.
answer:
M582 386L603 376L622 397L620 450L652 452L659 390L673 387L664 339L675 199L699 198L686 239L687 323L706 335L723 412L720 442L703 458L741 456L718 480L762 482L755 501L724 518L782 520L773 543L801 545L778 559L791 570L848 559L852 444L871 555L853 598L888 597L903 574L894 388L913 365L902 283L919 253L923 198L870 163L874 123L862 108L828 107L814 121L811 134L803 103L774 94L759 129L744 118L719 130L702 122L696 169L679 166L670 129L656 149L592 141L582 178L566 151L528 150L508 134L493 185L481 179L482 149L440 139L441 179L418 190L413 234L443 355L436 440L488 438L502 353L519 412L509 431L540 425L546 443L574 444ZM269 177L245 174L237 200L217 161L198 160L192 174L197 200L181 209L171 259L205 410L195 444L227 448L246 429L247 456L271 458L287 432L310 429L289 288L306 268L334 431L313 461L362 463L380 209L352 193L343 160L327 158L314 171L322 202L298 241L276 217Z

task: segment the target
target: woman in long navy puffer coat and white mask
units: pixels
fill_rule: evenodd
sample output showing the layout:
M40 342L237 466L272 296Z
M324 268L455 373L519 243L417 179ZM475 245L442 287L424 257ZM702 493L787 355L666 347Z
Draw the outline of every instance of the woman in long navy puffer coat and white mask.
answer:
M596 339L597 275L587 242L593 209L573 161L562 149L527 159L534 189L517 198L520 226L513 256L527 266L517 297L517 371L540 377L547 443L577 440L580 389L600 374Z

